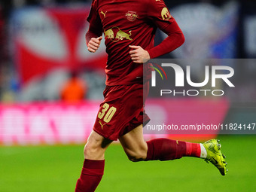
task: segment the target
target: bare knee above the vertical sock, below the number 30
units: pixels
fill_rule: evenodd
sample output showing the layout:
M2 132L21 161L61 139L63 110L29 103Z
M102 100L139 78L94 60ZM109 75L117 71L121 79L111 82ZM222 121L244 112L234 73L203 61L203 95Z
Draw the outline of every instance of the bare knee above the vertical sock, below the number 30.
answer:
M87 140L87 144L84 146L84 157L90 160L103 160L105 150L111 142L111 140L105 139L95 131L92 131Z

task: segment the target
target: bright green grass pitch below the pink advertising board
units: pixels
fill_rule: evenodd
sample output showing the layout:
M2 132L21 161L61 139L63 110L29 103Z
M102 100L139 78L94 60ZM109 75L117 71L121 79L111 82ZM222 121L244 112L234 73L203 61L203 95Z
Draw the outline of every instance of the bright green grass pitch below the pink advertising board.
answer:
M133 163L120 145L105 155L96 191L255 191L256 136L219 136L229 172L194 157ZM81 173L83 145L0 147L0 192L69 192Z

